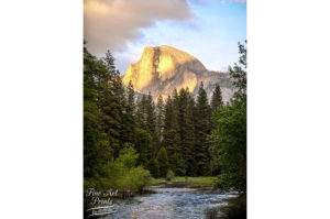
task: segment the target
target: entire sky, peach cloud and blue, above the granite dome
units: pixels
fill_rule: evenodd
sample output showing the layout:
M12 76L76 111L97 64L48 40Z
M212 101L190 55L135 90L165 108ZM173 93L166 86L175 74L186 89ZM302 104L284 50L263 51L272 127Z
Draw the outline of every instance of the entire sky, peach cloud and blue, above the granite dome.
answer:
M85 0L84 20L87 48L98 57L110 50L121 74L145 46L160 45L226 70L246 40L245 0Z

